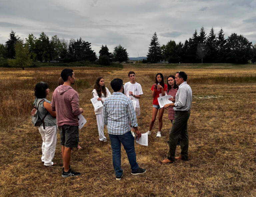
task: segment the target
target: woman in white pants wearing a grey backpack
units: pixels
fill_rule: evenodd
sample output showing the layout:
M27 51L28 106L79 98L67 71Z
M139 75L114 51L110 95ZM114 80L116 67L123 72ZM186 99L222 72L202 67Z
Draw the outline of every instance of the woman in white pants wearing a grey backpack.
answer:
M51 101L46 99L49 91L47 83L41 81L36 84L34 106L37 107L38 115L43 122L38 130L43 139L41 161L44 162L45 166L56 164L52 161L57 140L56 113L52 111Z

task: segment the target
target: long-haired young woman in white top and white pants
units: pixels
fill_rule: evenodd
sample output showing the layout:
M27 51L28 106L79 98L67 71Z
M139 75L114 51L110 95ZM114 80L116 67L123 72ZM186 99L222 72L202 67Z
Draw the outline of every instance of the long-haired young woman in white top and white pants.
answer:
M92 97L99 96L98 101L104 102L104 99L108 96L110 96L110 92L108 88L104 85L104 79L102 77L98 77L94 86L94 89L92 91ZM107 139L104 135L104 114L103 114L103 107L94 110L98 125L98 131L99 131L99 140L106 142Z

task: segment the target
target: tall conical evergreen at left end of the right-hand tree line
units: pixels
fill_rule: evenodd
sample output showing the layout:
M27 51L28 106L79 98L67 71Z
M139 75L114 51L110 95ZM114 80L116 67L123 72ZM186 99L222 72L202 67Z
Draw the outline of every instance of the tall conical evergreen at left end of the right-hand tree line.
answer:
M158 42L158 38L156 32L153 34L149 48L148 48L148 55L147 59L151 63L157 63L162 60L162 51L161 46Z

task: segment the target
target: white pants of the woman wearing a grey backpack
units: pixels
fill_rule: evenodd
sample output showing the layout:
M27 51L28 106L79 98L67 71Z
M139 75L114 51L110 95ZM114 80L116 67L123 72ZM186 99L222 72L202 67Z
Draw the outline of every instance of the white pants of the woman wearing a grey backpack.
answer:
M52 166L56 149L57 125L46 126L45 129L43 126L40 126L38 130L43 139L41 160L45 166Z

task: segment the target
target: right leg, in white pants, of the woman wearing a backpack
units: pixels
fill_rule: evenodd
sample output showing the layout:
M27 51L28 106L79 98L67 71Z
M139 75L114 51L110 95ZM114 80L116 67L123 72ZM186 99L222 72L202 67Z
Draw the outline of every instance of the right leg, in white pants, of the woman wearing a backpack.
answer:
M57 126L46 126L45 127L45 155L44 155L44 165L52 166L53 157L56 149L57 140Z

